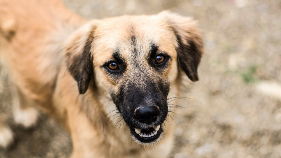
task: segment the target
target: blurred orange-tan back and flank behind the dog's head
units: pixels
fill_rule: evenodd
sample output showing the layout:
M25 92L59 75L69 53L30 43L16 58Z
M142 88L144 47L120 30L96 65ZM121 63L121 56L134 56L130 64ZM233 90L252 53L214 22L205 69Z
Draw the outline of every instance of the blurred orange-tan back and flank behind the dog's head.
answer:
M81 23L61 1L0 1L0 52L23 95L50 106L64 40Z

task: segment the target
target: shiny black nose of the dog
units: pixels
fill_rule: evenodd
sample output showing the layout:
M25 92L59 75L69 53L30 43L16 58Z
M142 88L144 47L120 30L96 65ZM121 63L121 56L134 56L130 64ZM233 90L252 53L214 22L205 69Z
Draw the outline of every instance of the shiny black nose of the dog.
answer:
M151 123L156 121L157 116L159 115L159 107L153 106L145 106L145 107L138 107L134 114L136 119L141 123Z

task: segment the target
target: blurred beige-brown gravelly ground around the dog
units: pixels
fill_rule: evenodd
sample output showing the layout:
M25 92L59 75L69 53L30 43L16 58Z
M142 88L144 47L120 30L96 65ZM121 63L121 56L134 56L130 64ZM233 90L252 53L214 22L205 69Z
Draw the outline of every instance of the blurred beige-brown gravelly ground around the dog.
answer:
M170 157L281 157L280 0L64 0L81 16L105 18L170 10L198 20L205 54L200 81L182 87ZM24 129L11 119L8 76L0 117L16 135L0 157L69 157L71 139L42 114Z

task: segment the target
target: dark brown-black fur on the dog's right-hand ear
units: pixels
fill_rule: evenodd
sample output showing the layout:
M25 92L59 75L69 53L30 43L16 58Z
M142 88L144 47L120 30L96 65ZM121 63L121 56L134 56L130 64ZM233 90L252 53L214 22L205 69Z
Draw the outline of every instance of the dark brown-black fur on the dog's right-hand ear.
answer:
M183 39L186 40L187 44L184 44L182 42L181 36L178 34L178 32L172 28L176 39L178 46L176 48L177 50L177 56L178 56L178 62L181 66L181 68L184 70L186 75L189 77L190 80L198 81L198 73L197 68L201 60L202 52L201 47L202 44L196 44L196 42L193 41L193 39ZM201 41L200 41L201 42Z

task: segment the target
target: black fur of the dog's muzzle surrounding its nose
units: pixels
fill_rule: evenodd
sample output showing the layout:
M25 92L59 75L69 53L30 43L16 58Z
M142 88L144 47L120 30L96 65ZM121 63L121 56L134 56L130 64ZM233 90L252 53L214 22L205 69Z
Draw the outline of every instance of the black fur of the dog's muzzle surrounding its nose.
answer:
M147 126L145 123L139 122L133 111L138 107L147 107L155 105L160 108L160 114L157 120L150 125L159 125L165 120L168 107L167 95L169 93L169 82L159 79L155 82L152 78L147 77L143 82L139 82L138 75L146 75L145 71L124 81L116 94L111 94L114 104L121 112L126 123L133 128L141 128ZM137 84L136 84L137 83Z

